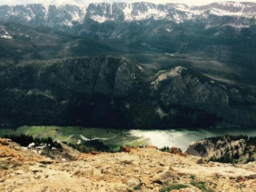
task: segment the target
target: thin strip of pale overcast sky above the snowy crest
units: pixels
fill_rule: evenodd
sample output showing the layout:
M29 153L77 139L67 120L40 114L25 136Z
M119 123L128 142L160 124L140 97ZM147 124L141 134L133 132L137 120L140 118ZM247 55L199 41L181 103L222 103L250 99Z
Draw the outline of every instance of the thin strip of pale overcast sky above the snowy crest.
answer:
M222 0L223 1L223 0ZM220 0L147 0L146 2L152 3L184 3L187 5L205 5L213 2L222 2ZM232 0L229 0L232 1ZM234 2L255 2L256 0L233 0ZM90 3L98 2L140 2L135 0L0 0L0 5L22 5L22 4L32 4L32 3L44 3L44 4L78 4L78 5L87 5ZM141 1L141 2L145 2Z

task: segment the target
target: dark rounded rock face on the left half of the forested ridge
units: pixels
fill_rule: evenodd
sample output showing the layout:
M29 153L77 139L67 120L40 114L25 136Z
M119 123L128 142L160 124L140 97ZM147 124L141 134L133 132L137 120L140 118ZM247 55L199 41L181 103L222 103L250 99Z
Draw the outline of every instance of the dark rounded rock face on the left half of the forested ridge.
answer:
M59 89L108 95L113 90L119 66L120 59L114 57L63 60L40 72L36 87L43 89L48 84Z

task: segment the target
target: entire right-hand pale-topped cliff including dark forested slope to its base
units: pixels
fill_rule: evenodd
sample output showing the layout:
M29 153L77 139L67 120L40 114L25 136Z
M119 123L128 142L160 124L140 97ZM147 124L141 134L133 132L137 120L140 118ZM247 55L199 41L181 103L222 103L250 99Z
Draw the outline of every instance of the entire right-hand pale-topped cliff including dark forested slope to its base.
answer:
M209 120L212 122L224 120L231 124L238 125L239 122L243 122L246 125L255 119L255 116L249 112L253 111L254 96L243 93L240 88L212 80L183 67L157 73L152 86L159 106L165 111L163 116L172 120L174 120L172 114L178 114L177 118L184 120L191 118L191 122L193 118L197 120L200 118L203 124L207 124ZM245 106L250 110L245 110ZM183 108L184 110L181 110ZM186 114L189 111L191 111L189 115L182 116L181 113Z

